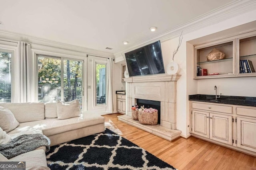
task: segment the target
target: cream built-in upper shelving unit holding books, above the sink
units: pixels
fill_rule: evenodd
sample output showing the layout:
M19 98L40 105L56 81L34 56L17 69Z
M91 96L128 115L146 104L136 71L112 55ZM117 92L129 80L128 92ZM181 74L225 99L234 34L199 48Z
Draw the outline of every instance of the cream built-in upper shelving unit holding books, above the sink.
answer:
M194 79L256 76L255 45L256 31L194 45ZM208 61L206 56L216 49L225 57Z

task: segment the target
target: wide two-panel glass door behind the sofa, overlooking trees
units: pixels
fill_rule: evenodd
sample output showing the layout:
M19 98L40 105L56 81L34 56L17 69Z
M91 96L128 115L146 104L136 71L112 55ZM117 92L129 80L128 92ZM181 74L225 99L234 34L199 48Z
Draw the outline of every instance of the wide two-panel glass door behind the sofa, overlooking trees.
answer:
M82 60L38 55L38 101L72 101L82 106Z

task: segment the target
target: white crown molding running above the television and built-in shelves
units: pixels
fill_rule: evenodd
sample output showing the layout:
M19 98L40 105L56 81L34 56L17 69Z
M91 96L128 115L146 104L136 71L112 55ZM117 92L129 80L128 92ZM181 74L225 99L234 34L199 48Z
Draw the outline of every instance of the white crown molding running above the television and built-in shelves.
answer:
M209 25L214 25L221 21L233 18L234 16L239 16L240 14L250 12L255 9L256 9L256 0L234 0L229 4L226 4L225 6L221 6L206 14L198 16L197 18L190 20L184 24L180 24L154 37L150 37L134 45L131 45L127 48L124 48L114 53L114 56L120 57L121 54L124 54L128 51L132 51L134 49L138 49L147 44L154 43L155 41L160 40L164 42L164 41L176 38L180 36L181 31L183 31L183 34L191 33L197 29L201 29Z

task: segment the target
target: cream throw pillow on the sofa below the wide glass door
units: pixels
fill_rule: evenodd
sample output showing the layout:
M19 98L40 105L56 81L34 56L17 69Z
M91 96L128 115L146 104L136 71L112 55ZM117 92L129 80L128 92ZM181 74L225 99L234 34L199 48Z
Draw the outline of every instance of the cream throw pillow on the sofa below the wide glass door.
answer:
M81 115L81 108L78 100L71 102L57 102L57 119L68 119Z

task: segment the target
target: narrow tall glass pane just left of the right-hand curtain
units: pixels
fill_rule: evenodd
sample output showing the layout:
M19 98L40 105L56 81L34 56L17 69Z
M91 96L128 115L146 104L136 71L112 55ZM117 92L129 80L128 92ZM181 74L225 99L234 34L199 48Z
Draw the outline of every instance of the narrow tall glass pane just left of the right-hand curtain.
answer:
M106 64L96 63L96 105L106 104Z

